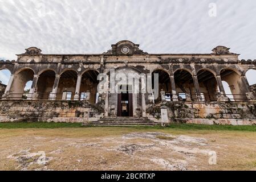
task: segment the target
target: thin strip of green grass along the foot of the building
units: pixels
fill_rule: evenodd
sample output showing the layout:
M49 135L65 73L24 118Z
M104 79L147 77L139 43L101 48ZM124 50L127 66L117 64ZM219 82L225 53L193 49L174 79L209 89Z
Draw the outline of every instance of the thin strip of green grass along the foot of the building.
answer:
M47 123L47 122L19 122L19 123L0 123L0 129L58 129L58 128L82 128L82 127L97 127L97 126L82 126L81 123ZM116 127L116 126L112 126ZM233 125L197 125L197 124L171 124L168 127L161 126L128 126L136 129L180 129L180 130L230 130L230 131L256 131L256 126L233 126Z

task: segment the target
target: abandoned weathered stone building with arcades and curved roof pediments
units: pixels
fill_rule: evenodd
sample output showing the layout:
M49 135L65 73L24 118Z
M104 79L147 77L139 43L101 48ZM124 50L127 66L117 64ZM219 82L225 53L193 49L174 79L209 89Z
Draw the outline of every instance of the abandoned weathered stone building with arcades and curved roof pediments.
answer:
M0 70L11 72L1 96L1 122L256 124L255 92L245 76L256 69L256 60L239 60L224 46L213 48L212 53L152 54L123 40L99 54L50 55L30 47L17 56L17 60L0 61ZM158 73L159 97L98 93L98 75L109 75L111 69L125 75ZM25 93L28 81L32 85ZM222 81L229 84L231 96Z

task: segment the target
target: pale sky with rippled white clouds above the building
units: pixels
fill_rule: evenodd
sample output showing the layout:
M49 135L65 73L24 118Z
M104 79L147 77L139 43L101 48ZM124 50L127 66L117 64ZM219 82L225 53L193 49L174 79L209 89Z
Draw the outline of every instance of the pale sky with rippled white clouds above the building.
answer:
M210 53L222 45L256 59L255 12L255 0L0 0L0 58L17 59L31 46L102 53L127 39L149 53Z

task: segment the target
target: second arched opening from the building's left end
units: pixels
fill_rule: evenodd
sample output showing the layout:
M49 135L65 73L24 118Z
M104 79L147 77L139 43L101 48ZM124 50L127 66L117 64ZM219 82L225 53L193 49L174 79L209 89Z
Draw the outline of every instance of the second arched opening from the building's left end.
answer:
M54 86L55 72L52 70L44 71L39 75L36 92L39 100L47 100Z

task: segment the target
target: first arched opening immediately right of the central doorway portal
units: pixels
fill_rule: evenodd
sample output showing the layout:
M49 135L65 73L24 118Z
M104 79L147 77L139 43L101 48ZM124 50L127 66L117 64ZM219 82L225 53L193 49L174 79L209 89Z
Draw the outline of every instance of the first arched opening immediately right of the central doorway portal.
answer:
M154 85L154 74L159 75L159 97L157 100L161 100L161 90L165 91L165 100L170 101L172 99L172 88L170 85L170 76L167 72L157 69L152 72L152 88L155 88Z

